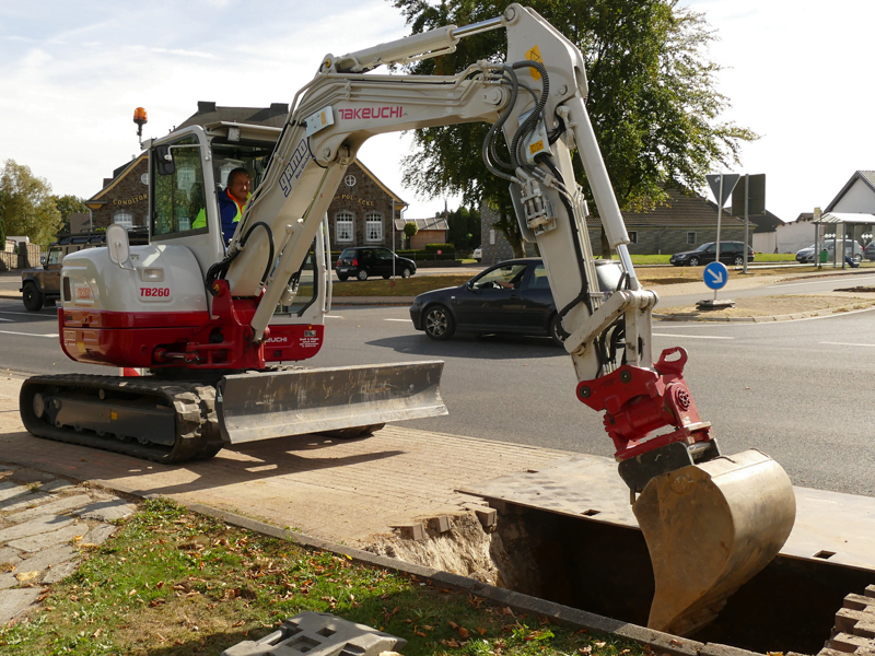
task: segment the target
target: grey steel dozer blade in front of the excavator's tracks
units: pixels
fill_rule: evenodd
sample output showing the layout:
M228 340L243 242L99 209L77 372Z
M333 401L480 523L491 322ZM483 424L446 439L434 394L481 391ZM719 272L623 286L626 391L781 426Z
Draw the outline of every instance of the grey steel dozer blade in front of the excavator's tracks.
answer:
M409 362L224 376L215 410L231 444L446 414L444 363Z

